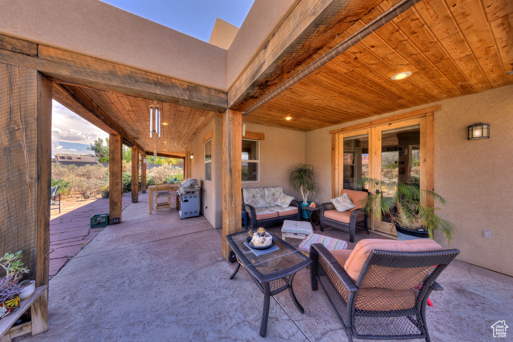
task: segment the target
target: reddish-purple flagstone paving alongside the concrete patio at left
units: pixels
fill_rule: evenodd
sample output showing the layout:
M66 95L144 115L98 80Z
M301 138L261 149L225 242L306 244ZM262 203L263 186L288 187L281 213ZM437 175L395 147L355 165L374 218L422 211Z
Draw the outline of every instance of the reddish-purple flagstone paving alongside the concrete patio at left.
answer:
M123 194L123 209L130 204L131 196L130 192ZM104 228L91 229L91 216L108 212L108 198L63 201L61 213L56 209L51 210L50 278L57 274Z

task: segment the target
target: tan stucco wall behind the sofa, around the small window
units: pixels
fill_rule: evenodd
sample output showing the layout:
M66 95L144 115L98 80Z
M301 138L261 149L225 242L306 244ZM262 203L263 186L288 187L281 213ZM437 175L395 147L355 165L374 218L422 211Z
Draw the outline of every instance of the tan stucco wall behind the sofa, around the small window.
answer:
M305 133L246 123L246 131L265 134L260 142L259 182L243 182L242 188L283 187L283 192L297 199L289 184L289 169L305 162Z

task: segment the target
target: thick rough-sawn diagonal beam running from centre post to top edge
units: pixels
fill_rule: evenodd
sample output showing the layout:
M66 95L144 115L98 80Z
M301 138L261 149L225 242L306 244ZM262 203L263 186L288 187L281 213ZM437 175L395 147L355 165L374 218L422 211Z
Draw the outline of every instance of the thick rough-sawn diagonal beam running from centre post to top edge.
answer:
M228 90L229 108L246 110L382 0L303 0ZM303 65L303 66L302 66Z

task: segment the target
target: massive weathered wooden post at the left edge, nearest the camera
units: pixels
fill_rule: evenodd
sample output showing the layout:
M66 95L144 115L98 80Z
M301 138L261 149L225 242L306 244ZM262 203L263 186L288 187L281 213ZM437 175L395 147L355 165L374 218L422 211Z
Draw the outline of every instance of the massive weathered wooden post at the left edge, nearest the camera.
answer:
M49 272L51 126L52 83L0 63L0 251L22 250L38 287Z

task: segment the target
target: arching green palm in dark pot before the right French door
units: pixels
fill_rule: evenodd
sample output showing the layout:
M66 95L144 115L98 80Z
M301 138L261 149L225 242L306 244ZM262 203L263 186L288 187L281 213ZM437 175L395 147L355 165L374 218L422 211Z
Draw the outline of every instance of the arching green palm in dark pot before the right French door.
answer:
M438 200L442 205L446 203L445 199L436 192L421 190L416 183L403 184L390 179L364 177L359 183L374 186L377 189L377 193L370 193L364 207L365 212L369 213L372 208L376 208L382 215L389 217L396 226L400 240L432 239L435 231L440 230L450 243L455 227L436 215L435 212L440 208L425 204L425 200L429 198L433 199L433 202Z

